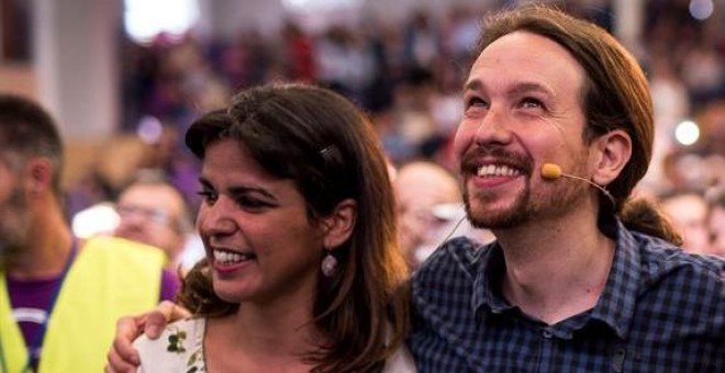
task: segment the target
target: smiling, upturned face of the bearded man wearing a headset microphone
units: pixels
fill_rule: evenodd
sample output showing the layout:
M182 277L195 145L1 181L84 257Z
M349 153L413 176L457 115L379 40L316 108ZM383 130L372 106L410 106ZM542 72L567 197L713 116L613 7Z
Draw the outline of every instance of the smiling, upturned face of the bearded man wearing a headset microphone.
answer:
M473 226L510 228L580 205L585 183L550 182L542 165L587 174L584 71L557 43L514 32L490 44L464 89L454 149Z

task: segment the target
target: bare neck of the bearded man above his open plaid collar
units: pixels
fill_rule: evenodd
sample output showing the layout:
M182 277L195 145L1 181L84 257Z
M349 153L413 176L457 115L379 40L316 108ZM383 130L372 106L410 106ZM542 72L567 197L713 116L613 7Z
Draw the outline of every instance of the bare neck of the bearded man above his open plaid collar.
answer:
M497 233L506 273L502 293L547 324L592 308L609 276L615 242L594 218L569 216Z

